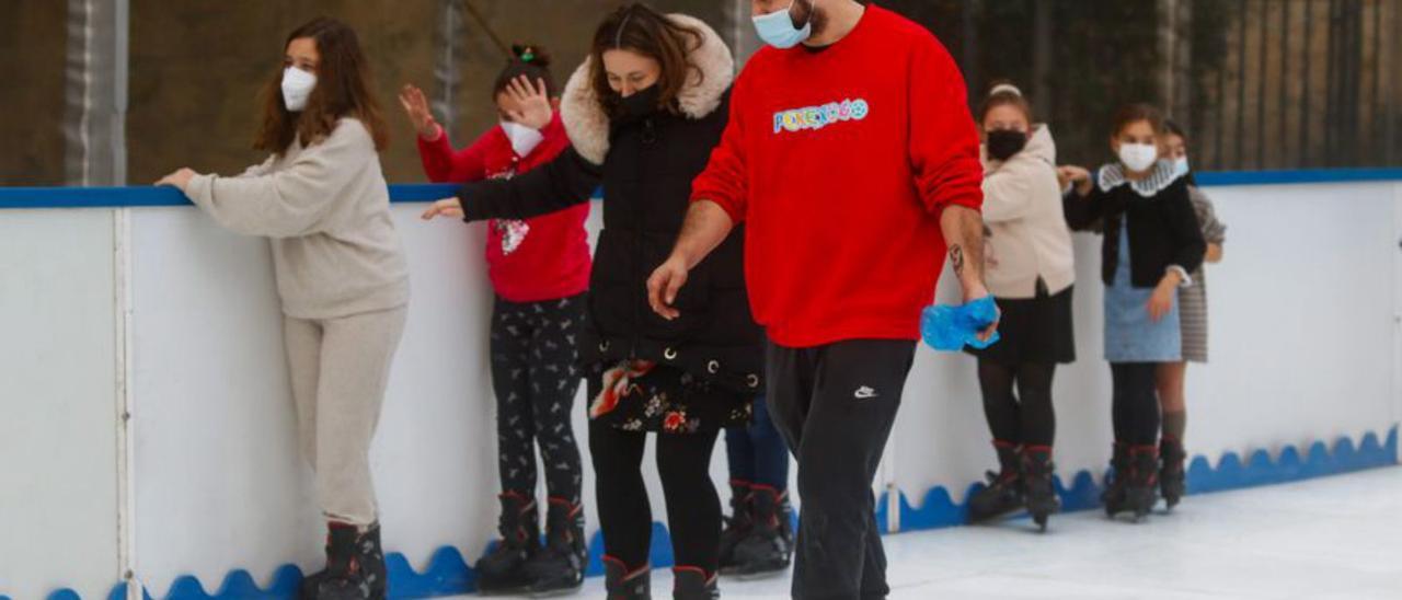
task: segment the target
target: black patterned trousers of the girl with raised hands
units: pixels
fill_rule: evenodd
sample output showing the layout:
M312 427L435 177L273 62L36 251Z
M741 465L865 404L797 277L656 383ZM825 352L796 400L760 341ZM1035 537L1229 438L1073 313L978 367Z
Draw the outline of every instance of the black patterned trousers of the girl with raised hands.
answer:
M492 314L492 387L502 491L536 498L536 446L551 498L579 503L583 470L569 415L580 374L585 297L512 303Z

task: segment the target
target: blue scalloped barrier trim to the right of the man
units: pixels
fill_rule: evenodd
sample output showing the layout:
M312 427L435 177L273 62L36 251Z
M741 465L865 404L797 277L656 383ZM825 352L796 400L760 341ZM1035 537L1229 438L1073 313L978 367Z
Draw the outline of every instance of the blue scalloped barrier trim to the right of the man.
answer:
M1333 451L1323 442L1309 446L1308 457L1301 458L1300 450L1287 446L1277 460L1270 460L1265 450L1251 453L1242 463L1237 453L1227 453L1213 468L1206 457L1193 458L1187 468L1187 489L1190 493L1210 493L1228 489L1255 488L1260 485L1288 484L1325 475L1340 475L1375 467L1398 464L1398 428L1388 432L1385 443L1375 433L1363 436L1357 447L1347 437L1335 443ZM1102 478L1103 481L1103 478ZM1101 506L1101 485L1089 471L1075 474L1067 488L1061 478L1054 479L1057 495L1061 496L1064 512L1088 510ZM983 488L983 484L969 486L963 498ZM917 531L952 527L967 521L967 505L953 502L949 491L935 486L925 493L925 502L917 509L904 493L900 495L900 529ZM885 517L885 510L878 519ZM885 521L882 521L885 523ZM887 531L889 527L883 527Z

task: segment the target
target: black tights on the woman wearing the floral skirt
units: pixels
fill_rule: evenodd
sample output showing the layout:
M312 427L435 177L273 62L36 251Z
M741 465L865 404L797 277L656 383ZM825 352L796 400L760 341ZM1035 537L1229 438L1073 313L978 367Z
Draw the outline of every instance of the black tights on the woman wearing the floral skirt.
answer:
M656 433L658 474L667 503L672 554L677 566L715 573L719 568L721 496L711 481L711 451L719 429ZM589 456L594 464L594 498L604 533L604 554L628 571L648 564L652 505L642 481L648 432L589 422Z

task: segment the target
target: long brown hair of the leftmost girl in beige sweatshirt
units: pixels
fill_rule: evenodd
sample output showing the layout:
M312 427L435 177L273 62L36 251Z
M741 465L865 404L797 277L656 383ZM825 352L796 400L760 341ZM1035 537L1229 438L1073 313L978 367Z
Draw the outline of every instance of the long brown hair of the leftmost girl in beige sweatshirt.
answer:
M254 149L282 154L297 139L313 144L331 136L338 119L349 116L359 119L370 132L376 150L384 150L390 144L388 128L380 115L380 104L370 93L370 64L355 29L334 18L317 17L287 34L282 48L286 50L293 39L301 38L311 38L321 55L317 87L301 112L287 111L282 100L283 67L279 67L264 87L262 126Z

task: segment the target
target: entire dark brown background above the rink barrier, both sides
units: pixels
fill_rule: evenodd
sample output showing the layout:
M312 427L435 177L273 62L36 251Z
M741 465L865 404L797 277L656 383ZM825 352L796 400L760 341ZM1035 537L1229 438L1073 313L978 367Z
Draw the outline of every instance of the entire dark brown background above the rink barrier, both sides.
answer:
M126 73L121 90L105 91L125 102L107 115L125 126L122 165L101 177L108 171L90 168L84 144L109 132L74 105L102 100L94 90L118 66L108 46L79 38L76 17L119 3ZM0 185L147 182L182 164L229 172L258 160L248 147L258 90L278 67L285 32L315 14L360 32L397 133L386 171L422 181L394 102L400 84L423 87L453 140L467 143L495 122L485 88L503 56L488 29L548 45L564 80L594 22L620 3L0 0ZM1199 170L1402 165L1402 0L876 3L944 41L970 102L991 81L1019 84L1067 163L1109 160L1110 116L1148 101L1187 128ZM653 4L707 20L742 56L754 48L747 0Z

